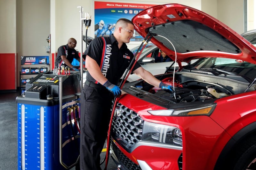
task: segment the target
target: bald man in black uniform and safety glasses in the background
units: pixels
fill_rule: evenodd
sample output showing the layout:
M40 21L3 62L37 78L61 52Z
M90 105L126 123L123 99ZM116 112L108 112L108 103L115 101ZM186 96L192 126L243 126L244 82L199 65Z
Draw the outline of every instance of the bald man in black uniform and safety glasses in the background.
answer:
M64 65L65 67L68 66L71 69L78 71L71 63L73 59L78 59L77 61L80 62L80 57L77 54L76 50L76 39L70 38L68 39L68 44L60 46L58 48L58 53L55 60L55 67L58 68L59 64Z

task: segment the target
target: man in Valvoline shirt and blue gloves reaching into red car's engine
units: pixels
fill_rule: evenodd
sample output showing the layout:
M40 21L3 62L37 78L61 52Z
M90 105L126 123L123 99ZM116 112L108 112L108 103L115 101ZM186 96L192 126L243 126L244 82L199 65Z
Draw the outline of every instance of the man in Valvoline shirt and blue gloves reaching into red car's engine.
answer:
M114 34L95 38L84 52L88 72L81 92L80 105L81 170L101 169L100 153L107 137L112 100L121 95L121 90L116 84L134 57L125 44L130 42L133 30L133 23L121 18L116 22ZM172 91L172 86L156 79L139 63L135 64L132 72L151 85Z

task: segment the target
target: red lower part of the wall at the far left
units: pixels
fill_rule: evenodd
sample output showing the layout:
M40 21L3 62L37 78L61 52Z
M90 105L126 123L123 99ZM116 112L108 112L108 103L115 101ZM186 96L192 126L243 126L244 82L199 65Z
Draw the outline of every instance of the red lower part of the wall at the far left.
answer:
M0 90L16 90L16 61L15 53L0 53L0 63L2 63Z

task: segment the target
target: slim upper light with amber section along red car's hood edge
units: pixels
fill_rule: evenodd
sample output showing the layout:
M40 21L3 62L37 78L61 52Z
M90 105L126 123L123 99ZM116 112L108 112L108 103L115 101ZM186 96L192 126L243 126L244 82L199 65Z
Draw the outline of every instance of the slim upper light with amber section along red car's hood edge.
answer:
M215 108L216 104L209 104L193 108L180 108L180 109L168 109L168 110L150 110L148 113L156 116L198 116L208 115L210 116Z

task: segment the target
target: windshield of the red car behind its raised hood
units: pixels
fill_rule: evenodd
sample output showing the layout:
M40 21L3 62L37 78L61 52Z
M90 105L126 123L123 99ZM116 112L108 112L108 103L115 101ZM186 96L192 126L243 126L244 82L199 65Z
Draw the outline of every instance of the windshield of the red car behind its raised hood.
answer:
M208 57L200 58L195 63L185 66L185 69L216 71L215 74L240 75L254 79L256 76L256 65L242 60Z

